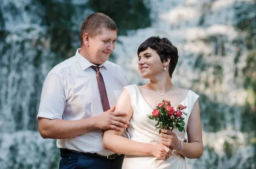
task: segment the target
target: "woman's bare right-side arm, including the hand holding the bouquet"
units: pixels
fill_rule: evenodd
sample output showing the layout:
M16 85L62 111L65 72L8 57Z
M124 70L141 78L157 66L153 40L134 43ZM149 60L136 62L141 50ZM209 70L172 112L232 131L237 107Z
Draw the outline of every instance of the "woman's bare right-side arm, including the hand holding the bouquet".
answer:
M163 130L162 132L166 133L162 134L162 143L169 146L170 149L179 150L181 144L175 133L170 130ZM200 158L203 154L204 146L198 101L195 102L189 116L187 133L188 143L182 142L183 146L179 153L186 158Z

